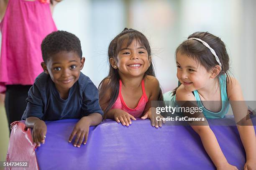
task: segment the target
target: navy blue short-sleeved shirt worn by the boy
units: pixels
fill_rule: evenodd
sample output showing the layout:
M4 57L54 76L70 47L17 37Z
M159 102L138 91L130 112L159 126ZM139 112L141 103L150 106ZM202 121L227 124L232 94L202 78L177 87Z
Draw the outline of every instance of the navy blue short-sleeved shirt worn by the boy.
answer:
M69 89L67 99L61 99L51 77L46 73L37 76L28 91L26 110L22 116L41 120L77 119L91 113L103 114L97 87L80 72L79 79Z

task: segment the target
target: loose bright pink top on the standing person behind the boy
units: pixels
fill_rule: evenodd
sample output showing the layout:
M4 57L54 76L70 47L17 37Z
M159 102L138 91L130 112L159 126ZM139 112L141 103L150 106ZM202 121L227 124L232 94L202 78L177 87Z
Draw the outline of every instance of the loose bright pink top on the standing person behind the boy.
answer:
M32 85L43 71L41 42L57 30L50 5L38 0L9 0L0 30L0 92L5 92L6 85Z

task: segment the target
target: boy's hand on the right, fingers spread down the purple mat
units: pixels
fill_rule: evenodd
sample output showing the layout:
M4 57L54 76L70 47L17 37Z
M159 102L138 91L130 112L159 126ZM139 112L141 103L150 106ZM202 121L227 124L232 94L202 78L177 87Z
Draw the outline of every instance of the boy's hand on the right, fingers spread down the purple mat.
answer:
M80 147L82 145L82 142L84 145L87 142L88 139L88 134L89 134L89 128L90 128L90 123L88 121L87 117L82 117L77 124L75 125L72 133L70 134L69 137L69 142L71 142L76 135L76 138L74 140L74 147Z

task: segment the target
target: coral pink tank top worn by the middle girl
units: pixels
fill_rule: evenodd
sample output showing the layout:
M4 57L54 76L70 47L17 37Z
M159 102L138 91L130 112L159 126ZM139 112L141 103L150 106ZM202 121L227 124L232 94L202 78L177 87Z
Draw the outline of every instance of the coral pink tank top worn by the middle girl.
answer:
M129 108L126 104L125 101L123 100L123 96L121 93L121 89L122 89L122 81L119 80L119 93L118 93L118 98L116 99L113 107L111 109L122 109L125 112L133 115L134 117L141 117L143 116L143 111L146 107L146 103L148 102L148 97L146 95L146 91L145 91L145 86L144 86L144 80L141 81L141 86L142 86L142 91L143 94L141 96L140 101L138 102L138 105L136 108L131 109Z

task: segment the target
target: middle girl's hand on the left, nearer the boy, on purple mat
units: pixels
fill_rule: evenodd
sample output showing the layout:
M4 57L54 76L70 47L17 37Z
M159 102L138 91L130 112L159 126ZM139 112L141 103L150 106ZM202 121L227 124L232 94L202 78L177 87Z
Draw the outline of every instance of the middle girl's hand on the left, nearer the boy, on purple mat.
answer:
M135 117L123 110L118 110L118 112L115 112L114 119L118 123L121 122L121 124L123 124L124 126L129 126L131 124L131 119L136 120Z

